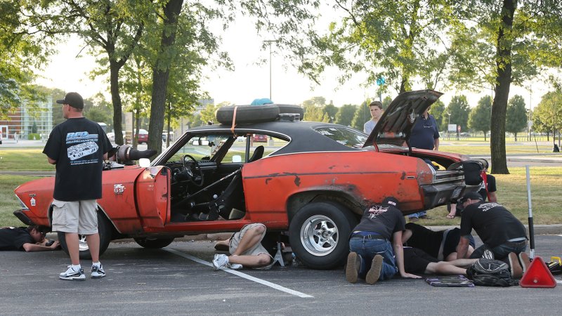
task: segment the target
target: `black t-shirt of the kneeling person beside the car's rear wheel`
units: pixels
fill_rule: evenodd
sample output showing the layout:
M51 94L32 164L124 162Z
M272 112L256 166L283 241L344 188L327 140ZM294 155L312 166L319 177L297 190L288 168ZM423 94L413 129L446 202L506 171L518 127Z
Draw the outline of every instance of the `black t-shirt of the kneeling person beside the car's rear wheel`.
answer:
M405 223L402 212L396 207L375 205L365 210L353 231L376 232L390 240L394 232L404 230Z

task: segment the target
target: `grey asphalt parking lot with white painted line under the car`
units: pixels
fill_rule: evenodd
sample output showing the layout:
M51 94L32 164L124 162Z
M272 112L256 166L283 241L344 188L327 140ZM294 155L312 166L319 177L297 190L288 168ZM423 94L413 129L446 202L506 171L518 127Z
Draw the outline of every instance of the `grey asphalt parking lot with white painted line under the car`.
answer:
M561 256L562 236L539 235L537 256ZM344 270L275 266L272 270L213 271L214 243L174 242L143 249L114 242L102 256L103 279L65 281L63 251L0 252L0 314L29 315L538 315L559 312L562 284L443 288L422 279L349 284ZM89 275L89 261L82 262ZM427 277L427 276L426 276ZM562 283L561 275L557 275Z

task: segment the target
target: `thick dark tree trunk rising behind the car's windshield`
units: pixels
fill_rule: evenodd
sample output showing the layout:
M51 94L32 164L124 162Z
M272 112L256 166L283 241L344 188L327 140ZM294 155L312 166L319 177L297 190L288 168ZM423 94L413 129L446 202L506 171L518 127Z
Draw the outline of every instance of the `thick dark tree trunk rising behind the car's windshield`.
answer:
M156 65L152 72L152 102L150 105L150 123L148 127L148 148L162 152L162 130L164 129L164 112L166 107L166 90L170 77L170 50L176 41L178 15L181 13L183 0L169 0L164 6L164 25L162 41ZM171 30L171 32L169 32Z

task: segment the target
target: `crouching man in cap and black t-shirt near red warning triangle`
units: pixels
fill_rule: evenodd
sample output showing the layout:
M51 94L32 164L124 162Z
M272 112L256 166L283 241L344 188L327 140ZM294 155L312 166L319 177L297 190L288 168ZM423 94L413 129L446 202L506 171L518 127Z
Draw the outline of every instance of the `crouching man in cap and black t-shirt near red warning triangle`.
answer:
M468 258L469 235L474 228L484 243L470 255L481 258L485 250L492 251L495 259L505 260L510 253L520 254L527 249L527 231L504 206L485 203L478 192L468 192L459 199L464 206L461 216L461 239L457 245L457 258ZM511 261L511 256L509 257Z

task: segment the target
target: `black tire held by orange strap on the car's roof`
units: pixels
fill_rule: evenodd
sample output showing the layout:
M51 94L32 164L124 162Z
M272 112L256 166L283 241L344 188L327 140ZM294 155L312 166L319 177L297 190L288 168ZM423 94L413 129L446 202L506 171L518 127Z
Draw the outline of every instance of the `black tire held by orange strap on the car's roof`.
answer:
M216 110L216 120L221 124L232 124L234 108L236 109L236 123L259 123L275 121L279 116L279 107L274 104L266 105L232 105Z

